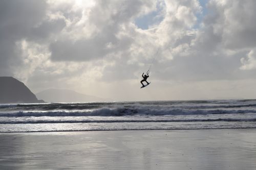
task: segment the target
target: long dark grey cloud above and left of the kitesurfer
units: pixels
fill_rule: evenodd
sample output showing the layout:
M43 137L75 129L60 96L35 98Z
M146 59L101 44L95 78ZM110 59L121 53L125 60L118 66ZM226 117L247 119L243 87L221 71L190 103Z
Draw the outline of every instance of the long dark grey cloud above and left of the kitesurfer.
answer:
M50 45L54 61L88 61L103 58L113 52L125 50L132 42L130 37L118 39L111 34L96 35L93 39L57 40ZM108 44L113 47L108 48Z

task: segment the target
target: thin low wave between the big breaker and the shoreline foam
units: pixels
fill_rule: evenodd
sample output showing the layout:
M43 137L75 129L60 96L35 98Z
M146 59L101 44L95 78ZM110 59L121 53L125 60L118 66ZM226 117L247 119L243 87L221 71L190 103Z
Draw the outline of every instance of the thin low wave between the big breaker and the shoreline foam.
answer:
M0 124L59 124L59 123L154 123L154 122L254 122L256 118L210 118L210 119L157 119L157 120L25 120L0 121Z

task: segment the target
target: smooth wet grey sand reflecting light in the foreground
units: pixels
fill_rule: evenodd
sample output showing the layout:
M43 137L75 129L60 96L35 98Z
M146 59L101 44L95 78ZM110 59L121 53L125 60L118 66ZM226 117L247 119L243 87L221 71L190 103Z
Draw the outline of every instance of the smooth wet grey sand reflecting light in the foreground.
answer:
M0 169L256 169L256 129L0 133Z

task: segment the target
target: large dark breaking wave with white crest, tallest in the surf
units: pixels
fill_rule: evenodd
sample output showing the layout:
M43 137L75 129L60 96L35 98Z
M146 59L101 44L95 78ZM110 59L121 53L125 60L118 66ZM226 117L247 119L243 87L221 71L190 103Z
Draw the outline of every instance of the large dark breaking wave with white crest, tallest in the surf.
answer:
M206 115L206 114L246 114L256 113L255 109L239 110L192 110L192 109L127 109L127 108L101 108L88 111L18 111L0 113L0 117L25 117L25 116L129 116L129 115Z

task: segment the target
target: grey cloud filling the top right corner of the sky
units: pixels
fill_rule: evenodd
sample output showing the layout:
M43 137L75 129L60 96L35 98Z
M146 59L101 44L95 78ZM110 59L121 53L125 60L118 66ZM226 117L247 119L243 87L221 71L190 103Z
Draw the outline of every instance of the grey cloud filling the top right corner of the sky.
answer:
M205 25L221 36L224 47L238 50L256 46L256 1L211 1L208 8Z

